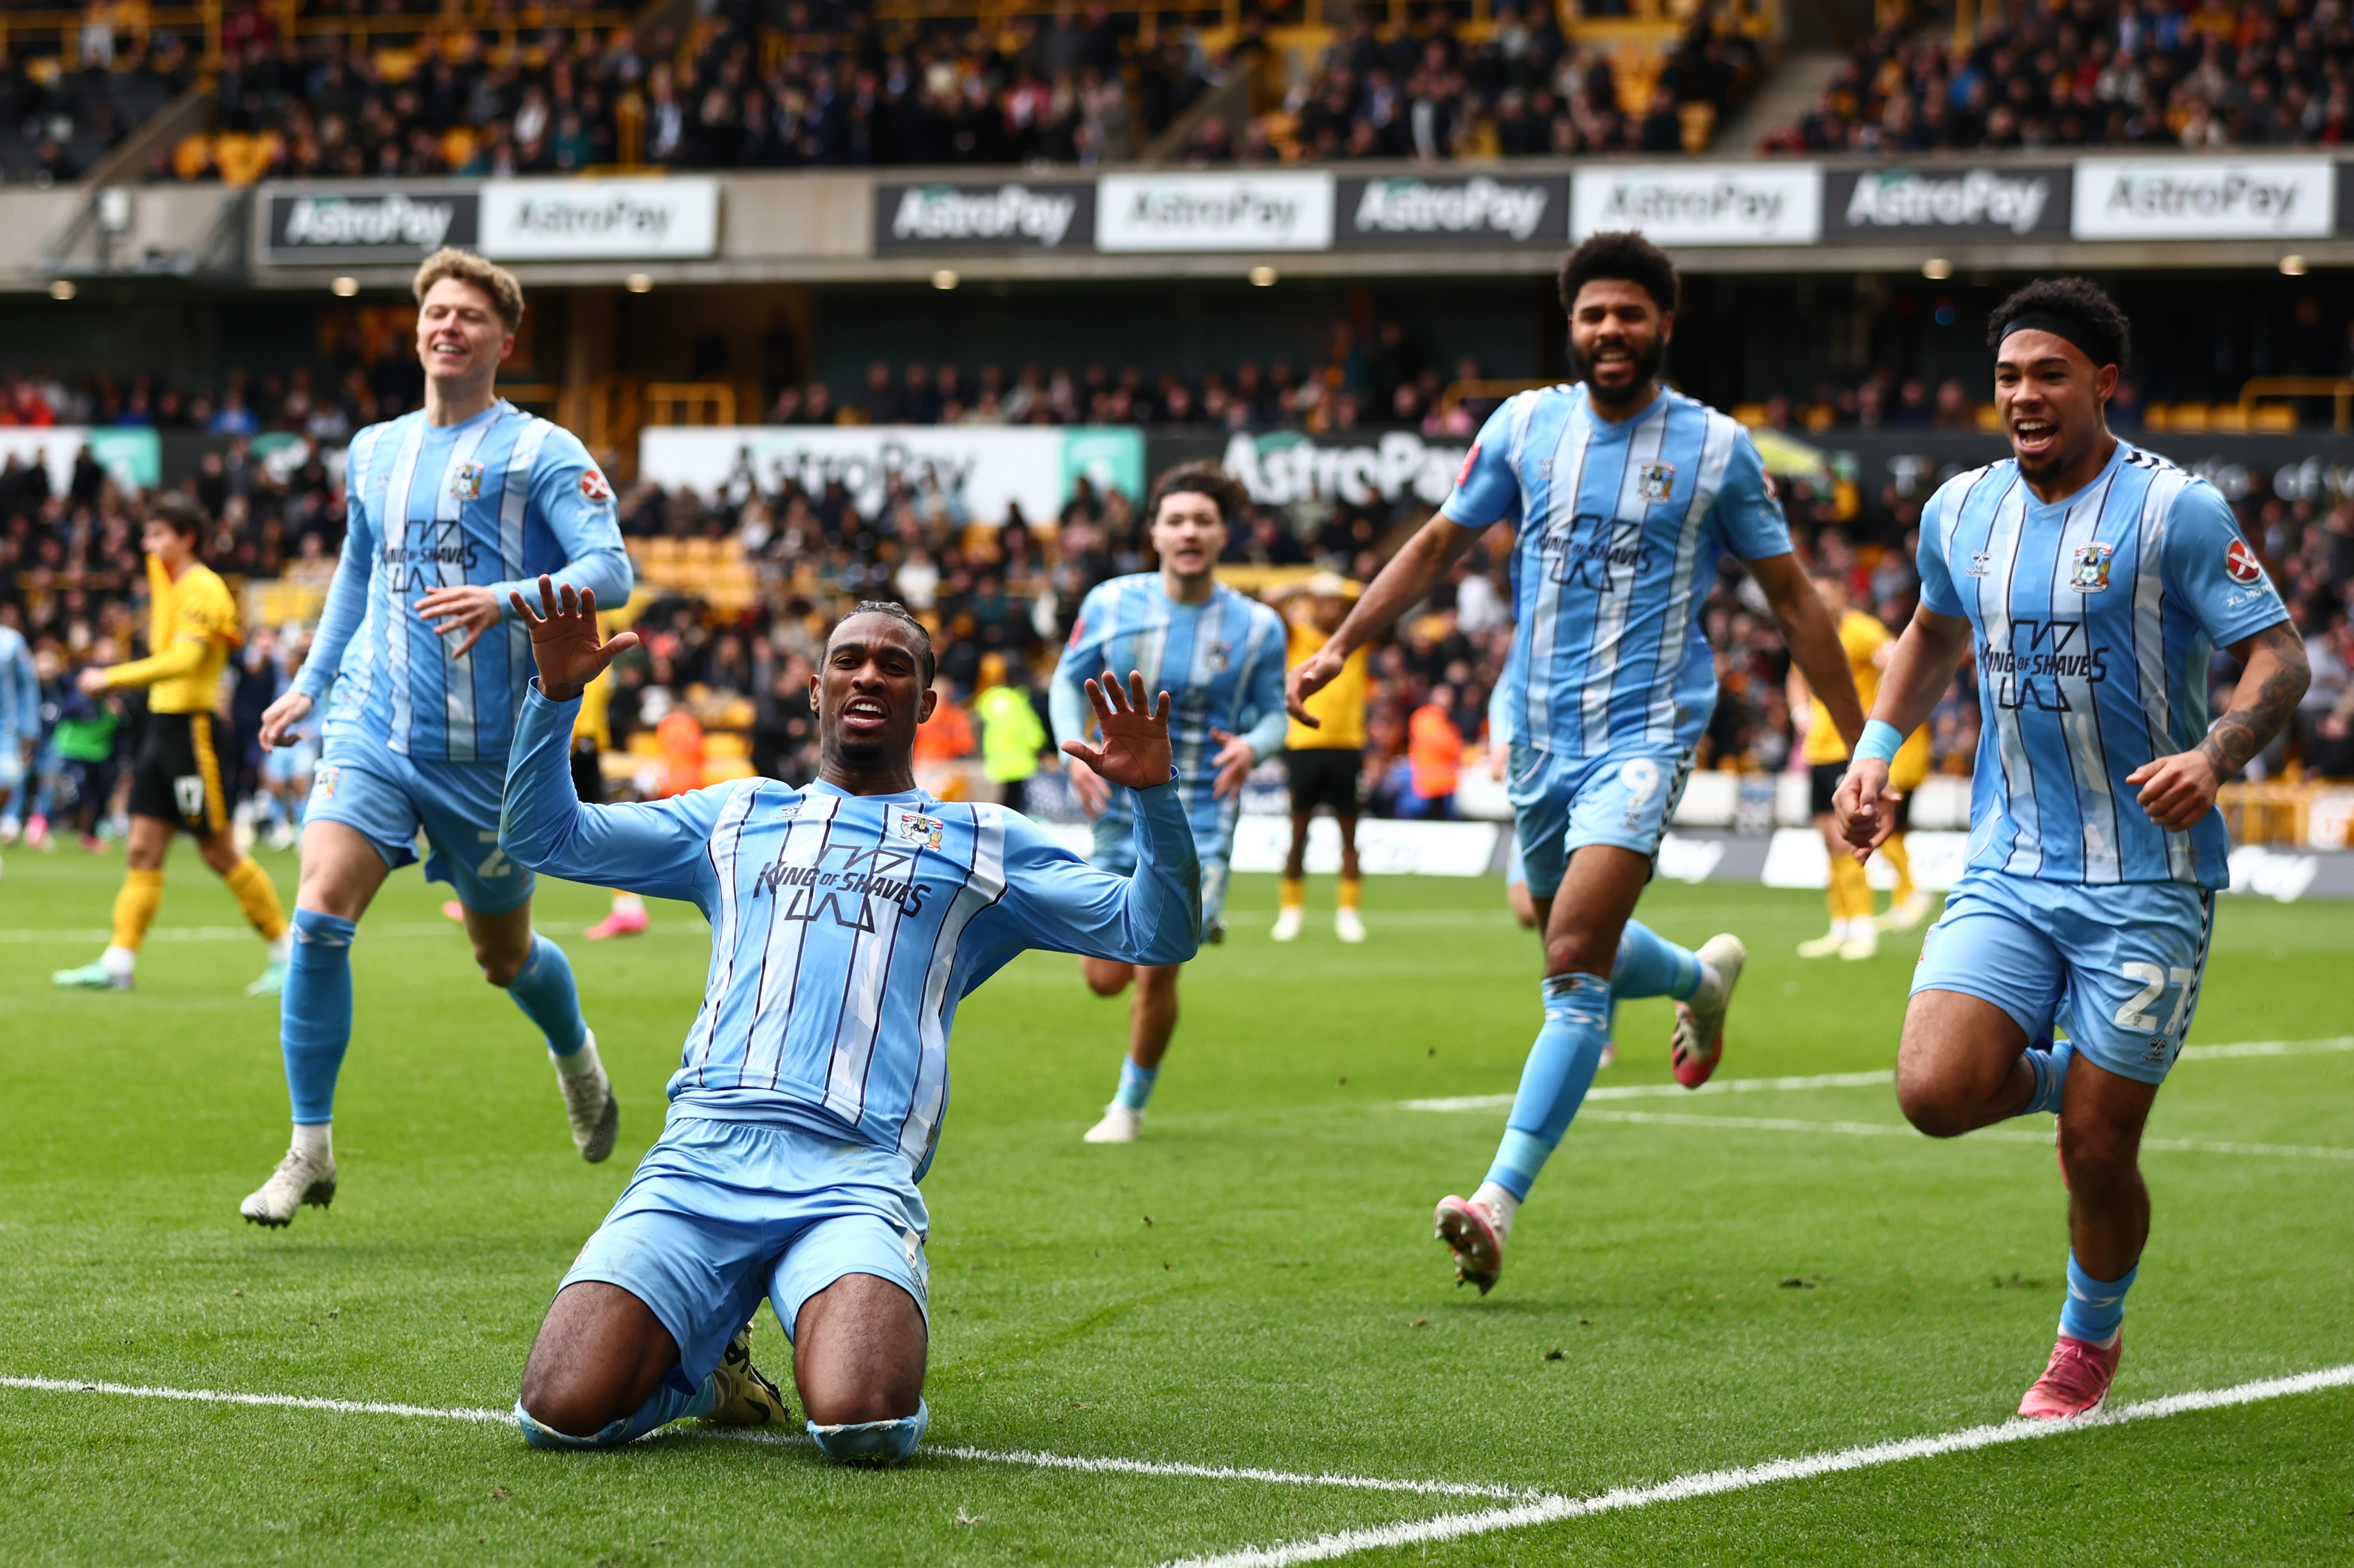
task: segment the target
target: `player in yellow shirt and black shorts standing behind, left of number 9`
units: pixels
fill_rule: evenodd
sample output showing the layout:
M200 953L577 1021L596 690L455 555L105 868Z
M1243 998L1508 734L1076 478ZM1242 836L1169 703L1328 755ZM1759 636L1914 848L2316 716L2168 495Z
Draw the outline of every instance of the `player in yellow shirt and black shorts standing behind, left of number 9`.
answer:
M1276 598L1288 598L1283 605L1283 666L1302 664L1330 643L1339 624L1349 619L1349 605L1363 591L1361 584L1339 572L1316 572L1278 593ZM1269 932L1276 942L1295 939L1306 921L1309 822L1318 805L1330 808L1332 822L1339 824L1339 909L1332 913L1332 932L1342 942L1365 939L1365 918L1358 913L1365 883L1356 864L1356 784L1365 772L1370 664L1370 647L1351 650L1332 683L1306 699L1316 723L1304 725L1295 718L1283 732L1283 768L1292 784L1292 850L1283 859L1276 930Z

